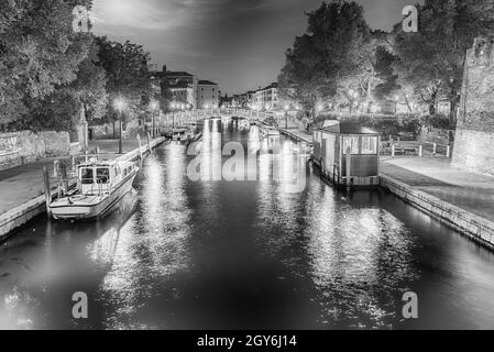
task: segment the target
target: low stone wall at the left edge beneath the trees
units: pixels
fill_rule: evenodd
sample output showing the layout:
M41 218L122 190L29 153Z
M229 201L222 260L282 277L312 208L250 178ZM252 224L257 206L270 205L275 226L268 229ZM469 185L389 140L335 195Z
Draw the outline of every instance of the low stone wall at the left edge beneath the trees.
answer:
M67 132L21 131L0 133L0 169L15 167L43 157L70 153Z

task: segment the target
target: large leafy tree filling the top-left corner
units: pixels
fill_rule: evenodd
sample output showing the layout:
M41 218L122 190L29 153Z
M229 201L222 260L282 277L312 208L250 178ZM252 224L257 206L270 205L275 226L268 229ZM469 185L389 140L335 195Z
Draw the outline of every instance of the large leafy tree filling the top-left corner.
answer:
M91 35L74 33L75 6L90 0L0 0L0 122L40 128L50 119L40 109L77 78L88 55ZM47 100L50 99L50 100Z

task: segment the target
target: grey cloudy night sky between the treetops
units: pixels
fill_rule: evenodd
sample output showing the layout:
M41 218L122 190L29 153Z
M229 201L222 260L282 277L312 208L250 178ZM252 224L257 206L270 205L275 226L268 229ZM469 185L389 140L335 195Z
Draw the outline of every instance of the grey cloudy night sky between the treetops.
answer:
M391 30L416 0L359 0L373 29ZM153 63L242 92L276 81L285 51L321 0L95 0L98 35L141 44Z

